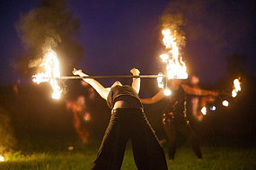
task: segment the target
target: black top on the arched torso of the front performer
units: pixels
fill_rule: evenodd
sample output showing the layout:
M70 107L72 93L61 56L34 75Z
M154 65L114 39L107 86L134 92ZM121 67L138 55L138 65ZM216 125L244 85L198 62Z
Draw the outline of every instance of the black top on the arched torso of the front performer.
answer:
M123 86L117 85L110 89L110 93L107 98L108 106L110 108L113 108L113 106L115 104L115 99L119 98L121 96L129 96L131 98L134 98L141 105L140 99L139 99L137 91L135 89L133 89L131 86L128 86L128 85L123 85Z

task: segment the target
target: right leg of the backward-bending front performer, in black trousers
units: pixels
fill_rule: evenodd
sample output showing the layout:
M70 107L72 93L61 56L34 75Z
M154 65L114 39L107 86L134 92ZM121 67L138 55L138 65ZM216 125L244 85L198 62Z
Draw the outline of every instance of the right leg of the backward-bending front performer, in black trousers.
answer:
M132 147L138 170L167 170L165 155L159 141L142 112L133 120Z

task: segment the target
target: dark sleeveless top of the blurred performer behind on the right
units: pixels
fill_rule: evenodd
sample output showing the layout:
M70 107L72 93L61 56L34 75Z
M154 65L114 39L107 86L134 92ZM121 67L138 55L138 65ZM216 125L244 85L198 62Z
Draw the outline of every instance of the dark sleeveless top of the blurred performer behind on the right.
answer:
M172 89L172 87L171 87ZM182 89L181 85L179 89L172 89L172 95L168 98L168 106L165 110L165 113L173 114L173 117L176 118L186 118L186 93Z

